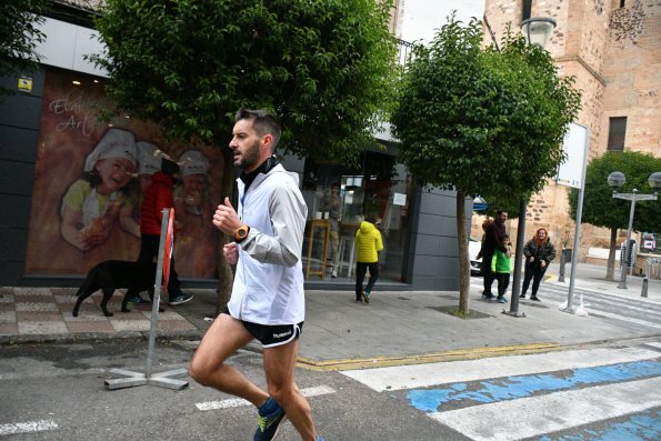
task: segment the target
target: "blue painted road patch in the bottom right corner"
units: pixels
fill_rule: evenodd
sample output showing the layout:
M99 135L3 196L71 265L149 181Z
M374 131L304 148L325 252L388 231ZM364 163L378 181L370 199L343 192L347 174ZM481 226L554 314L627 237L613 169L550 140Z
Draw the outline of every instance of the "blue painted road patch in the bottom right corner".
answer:
M539 441L658 441L661 440L661 412L638 413L628 421L609 423L605 429L584 429L579 434L550 437Z

